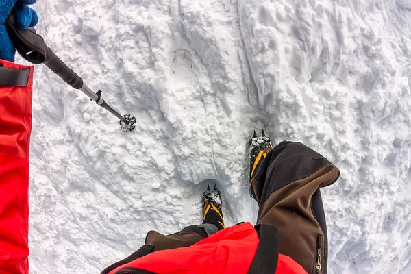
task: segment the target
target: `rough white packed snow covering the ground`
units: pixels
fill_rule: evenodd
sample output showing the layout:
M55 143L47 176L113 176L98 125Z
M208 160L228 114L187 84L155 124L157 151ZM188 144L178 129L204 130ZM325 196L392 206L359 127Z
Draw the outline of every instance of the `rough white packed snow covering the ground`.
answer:
M411 4L405 0L42 0L37 31L134 132L36 66L31 273L99 273L149 230L256 221L247 144L301 141L323 190L329 273L411 273ZM21 59L18 61L21 62Z

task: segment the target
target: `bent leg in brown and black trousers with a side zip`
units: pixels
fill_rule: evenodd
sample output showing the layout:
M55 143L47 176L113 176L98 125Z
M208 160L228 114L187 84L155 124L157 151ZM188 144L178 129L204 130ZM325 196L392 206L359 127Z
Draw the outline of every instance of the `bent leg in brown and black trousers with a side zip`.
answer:
M327 272L327 228L319 188L333 184L339 175L319 153L298 142L282 142L252 180L259 204L257 223L275 225L279 253L308 273Z

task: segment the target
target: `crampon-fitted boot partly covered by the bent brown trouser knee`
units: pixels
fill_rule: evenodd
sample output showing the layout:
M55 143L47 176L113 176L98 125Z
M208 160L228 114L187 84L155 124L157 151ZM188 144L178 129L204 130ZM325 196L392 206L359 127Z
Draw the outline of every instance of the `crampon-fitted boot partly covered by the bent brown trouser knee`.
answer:
M255 200L256 193L253 190L253 177L256 176L262 161L266 158L267 153L269 153L272 148L271 140L265 135L264 129L262 129L262 134L260 136L257 136L256 131L254 130L253 137L250 139L249 193Z

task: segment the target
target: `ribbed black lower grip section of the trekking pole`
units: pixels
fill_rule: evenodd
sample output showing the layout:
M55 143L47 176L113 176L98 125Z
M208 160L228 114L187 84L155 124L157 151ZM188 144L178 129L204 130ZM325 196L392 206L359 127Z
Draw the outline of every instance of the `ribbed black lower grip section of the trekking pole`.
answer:
M73 69L70 69L69 66L58 58L49 47L46 47L46 59L44 64L73 88L77 90L82 88L82 77L79 77Z

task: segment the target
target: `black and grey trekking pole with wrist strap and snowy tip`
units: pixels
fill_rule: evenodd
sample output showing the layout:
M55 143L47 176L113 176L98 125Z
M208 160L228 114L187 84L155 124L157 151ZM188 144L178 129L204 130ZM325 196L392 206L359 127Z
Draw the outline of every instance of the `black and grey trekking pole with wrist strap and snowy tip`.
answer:
M10 14L5 22L8 35L16 47L18 53L25 60L33 64L44 63L51 71L60 76L70 86L77 90L81 90L92 101L95 101L101 108L105 108L111 114L120 119L121 129L125 132L132 131L136 126L136 118L125 114L122 116L114 110L107 102L101 98L101 90L93 92L88 86L83 83L83 79L69 68L64 62L58 58L53 51L47 47L42 36L36 33L36 29L31 27L29 29L19 29L16 25L16 20L13 13Z

